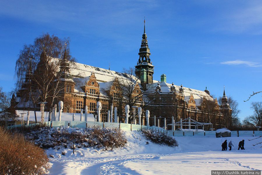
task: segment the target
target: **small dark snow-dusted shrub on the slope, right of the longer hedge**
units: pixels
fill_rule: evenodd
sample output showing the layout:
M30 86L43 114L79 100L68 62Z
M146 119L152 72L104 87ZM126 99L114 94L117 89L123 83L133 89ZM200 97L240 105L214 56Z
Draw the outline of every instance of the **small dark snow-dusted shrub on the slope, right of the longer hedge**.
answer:
M154 131L153 129L145 129L142 132L148 140L151 140L154 143L165 144L168 146L178 146L175 138L164 133Z

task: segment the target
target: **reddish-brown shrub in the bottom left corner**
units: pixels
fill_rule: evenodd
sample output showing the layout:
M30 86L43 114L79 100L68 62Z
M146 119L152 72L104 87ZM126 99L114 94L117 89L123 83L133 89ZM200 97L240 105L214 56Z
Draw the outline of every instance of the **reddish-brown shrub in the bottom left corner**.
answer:
M0 174L45 174L45 151L26 141L21 134L11 134L0 127Z

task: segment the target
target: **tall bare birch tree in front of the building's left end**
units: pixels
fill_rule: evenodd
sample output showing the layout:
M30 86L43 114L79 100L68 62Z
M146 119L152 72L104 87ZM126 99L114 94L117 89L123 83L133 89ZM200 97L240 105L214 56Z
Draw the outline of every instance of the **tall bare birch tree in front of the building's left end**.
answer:
M24 45L16 61L16 88L20 90L20 101L36 108L38 102L48 102L48 121L52 106L64 89L60 71L63 59L73 62L69 55L69 39L59 39L48 33L35 39L34 44Z

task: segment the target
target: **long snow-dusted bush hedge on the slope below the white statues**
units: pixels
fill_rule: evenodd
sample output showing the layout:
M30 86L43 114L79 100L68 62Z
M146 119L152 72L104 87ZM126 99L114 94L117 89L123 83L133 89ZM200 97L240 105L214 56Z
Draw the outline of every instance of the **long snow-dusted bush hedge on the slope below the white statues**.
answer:
M75 134L75 145L73 145L73 135ZM71 128L68 126L41 128L25 134L27 140L39 145L41 148L82 148L95 147L112 150L113 148L123 147L126 138L122 130L118 128Z

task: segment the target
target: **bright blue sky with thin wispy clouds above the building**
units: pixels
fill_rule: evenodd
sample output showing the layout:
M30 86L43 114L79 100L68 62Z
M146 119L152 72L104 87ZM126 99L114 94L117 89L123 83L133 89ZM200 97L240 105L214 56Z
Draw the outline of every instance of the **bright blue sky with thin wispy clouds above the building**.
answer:
M14 88L15 61L23 44L45 32L70 37L79 63L121 71L138 60L146 33L154 79L215 97L231 95L239 117L261 91L261 1L0 1L0 86Z

